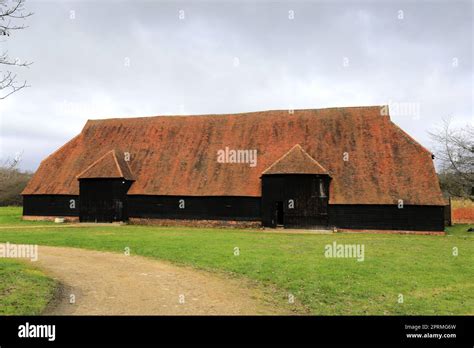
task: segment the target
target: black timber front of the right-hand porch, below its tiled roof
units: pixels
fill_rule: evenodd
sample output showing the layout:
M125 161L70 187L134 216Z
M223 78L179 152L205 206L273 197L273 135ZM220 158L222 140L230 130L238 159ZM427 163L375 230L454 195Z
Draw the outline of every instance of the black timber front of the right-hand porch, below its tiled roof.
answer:
M323 181L325 197L321 197L319 180ZM262 223L274 227L275 206L283 203L283 225L285 227L327 226L327 203L329 199L329 177L327 175L264 175L262 176ZM294 207L289 207L293 200Z

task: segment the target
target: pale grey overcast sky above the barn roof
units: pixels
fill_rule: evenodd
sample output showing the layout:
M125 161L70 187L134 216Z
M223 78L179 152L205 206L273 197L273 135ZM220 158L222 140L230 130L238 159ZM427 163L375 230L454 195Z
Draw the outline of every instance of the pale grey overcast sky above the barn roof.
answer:
M427 147L473 119L471 1L26 1L33 61L0 101L0 157L35 170L87 119L389 104ZM0 69L4 67L0 66Z

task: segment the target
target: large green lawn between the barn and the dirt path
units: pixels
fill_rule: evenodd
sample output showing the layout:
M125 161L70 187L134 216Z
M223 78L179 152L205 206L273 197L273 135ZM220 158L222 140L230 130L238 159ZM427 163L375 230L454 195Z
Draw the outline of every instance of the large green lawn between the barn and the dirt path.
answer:
M35 223L20 218L21 209L0 208L0 242L119 253L128 247L132 254L255 280L278 301L293 295L305 308L301 313L474 314L474 234L466 232L467 225L449 228L447 236L316 235L150 226L30 228ZM363 245L364 261L326 258L325 246L333 242Z

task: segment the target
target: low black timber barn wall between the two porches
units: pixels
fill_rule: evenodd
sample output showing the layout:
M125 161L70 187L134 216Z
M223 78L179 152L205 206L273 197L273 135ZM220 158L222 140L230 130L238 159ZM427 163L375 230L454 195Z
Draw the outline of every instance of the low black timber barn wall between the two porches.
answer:
M135 218L260 220L260 197L128 195L128 215ZM184 208L180 208L180 200Z

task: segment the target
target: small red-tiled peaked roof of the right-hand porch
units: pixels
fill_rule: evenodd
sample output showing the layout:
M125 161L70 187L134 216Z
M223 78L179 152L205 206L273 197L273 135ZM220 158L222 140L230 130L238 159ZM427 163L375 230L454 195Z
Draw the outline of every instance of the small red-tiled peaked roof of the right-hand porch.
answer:
M263 175L269 174L329 174L314 158L303 150L300 144L296 144L265 169Z

